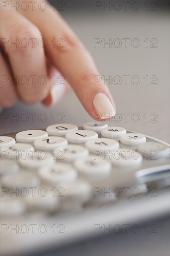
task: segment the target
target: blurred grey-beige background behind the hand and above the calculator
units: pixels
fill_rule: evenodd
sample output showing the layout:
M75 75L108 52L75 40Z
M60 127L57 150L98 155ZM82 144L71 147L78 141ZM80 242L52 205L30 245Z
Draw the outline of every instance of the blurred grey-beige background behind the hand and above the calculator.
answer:
M108 84L118 112L109 124L169 142L169 1L50 2L90 51ZM18 103L4 112L1 134L17 132L21 126L46 128L63 116L62 121L79 126L92 120L74 93L53 108ZM22 113L28 114L28 120ZM29 113L37 113L35 121Z

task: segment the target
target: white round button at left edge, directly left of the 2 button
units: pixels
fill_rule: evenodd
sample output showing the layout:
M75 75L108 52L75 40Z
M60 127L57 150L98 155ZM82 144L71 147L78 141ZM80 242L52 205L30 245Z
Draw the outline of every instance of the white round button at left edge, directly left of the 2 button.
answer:
M28 143L16 143L14 146L3 147L0 149L0 155L10 160L18 160L20 157L25 158L26 155L33 151L34 147Z

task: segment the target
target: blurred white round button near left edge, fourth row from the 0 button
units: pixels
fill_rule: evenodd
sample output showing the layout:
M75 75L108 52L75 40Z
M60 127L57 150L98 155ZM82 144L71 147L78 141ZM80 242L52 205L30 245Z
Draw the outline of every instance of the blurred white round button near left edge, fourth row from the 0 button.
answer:
M15 174L4 175L1 179L2 184L8 188L20 189L39 186L40 180L33 173L21 170Z

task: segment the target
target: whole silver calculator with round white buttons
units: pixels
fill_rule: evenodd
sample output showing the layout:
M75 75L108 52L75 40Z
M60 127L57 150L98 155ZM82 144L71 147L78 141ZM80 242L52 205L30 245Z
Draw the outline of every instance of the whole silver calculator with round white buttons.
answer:
M110 233L170 210L170 145L105 122L0 136L1 255Z

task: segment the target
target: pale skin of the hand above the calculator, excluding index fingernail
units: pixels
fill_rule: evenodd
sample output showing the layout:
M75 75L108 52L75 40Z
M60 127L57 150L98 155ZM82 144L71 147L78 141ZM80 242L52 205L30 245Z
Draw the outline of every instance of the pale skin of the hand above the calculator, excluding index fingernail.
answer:
M16 4L17 1L12 2ZM72 28L49 3L46 10L42 11L38 7L38 1L34 3L34 10L29 2L27 10L21 10L20 7L18 11L14 7L10 9L9 3L0 11L0 75L5 77L0 84L0 106L12 107L20 100L26 103L41 101L44 105L51 106L54 86L52 77L62 75L65 89L57 101L73 89L93 118L94 113L98 112L93 105L93 99L96 94L104 93L116 109L106 84L102 80L94 84L94 77L100 74L92 56ZM44 45L42 38L46 41ZM58 39L61 40L57 41ZM64 47L59 47L61 43ZM17 76L26 76L26 85L20 79L11 79ZM44 85L39 83L38 78L41 76L47 78ZM101 121L104 118L95 116L95 119Z

